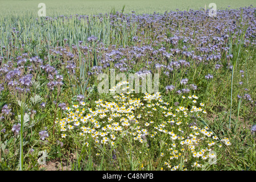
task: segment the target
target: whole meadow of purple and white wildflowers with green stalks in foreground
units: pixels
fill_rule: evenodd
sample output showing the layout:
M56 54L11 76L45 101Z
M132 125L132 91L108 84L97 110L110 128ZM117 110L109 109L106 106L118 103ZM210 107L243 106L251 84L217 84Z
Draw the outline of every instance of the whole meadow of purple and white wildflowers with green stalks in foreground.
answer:
M255 7L124 9L1 15L0 170L254 171Z

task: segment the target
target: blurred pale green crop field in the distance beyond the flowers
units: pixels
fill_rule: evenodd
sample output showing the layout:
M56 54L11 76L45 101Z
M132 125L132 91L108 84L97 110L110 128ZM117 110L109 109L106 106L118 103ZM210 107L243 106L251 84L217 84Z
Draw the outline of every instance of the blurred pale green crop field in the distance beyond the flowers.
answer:
M256 1L245 0L245 1L188 1L188 0L73 0L73 1L51 1L51 0L0 0L0 16L23 16L32 15L38 16L38 4L46 4L46 15L47 16L58 16L58 15L73 15L73 14L104 14L109 13L113 8L116 11L121 11L125 5L125 11L123 13L129 14L131 11L135 11L137 14L143 13L164 13L165 11L175 11L179 9L184 10L199 10L200 8L206 7L210 9L209 3L216 3L217 10L220 9L237 9L239 7L248 7L253 5L256 6ZM228 7L230 6L230 7Z

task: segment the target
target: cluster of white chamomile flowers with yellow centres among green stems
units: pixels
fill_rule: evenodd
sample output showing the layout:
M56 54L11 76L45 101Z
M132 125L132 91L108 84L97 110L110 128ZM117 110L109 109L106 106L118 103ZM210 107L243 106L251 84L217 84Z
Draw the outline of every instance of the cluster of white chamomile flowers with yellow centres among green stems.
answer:
M122 82L111 90L124 88L124 85L125 89L129 89L127 84ZM195 95L191 98L198 99ZM132 93L125 92L115 94L111 102L97 100L92 107L73 105L67 108L65 117L58 119L57 123L61 137L76 135L87 146L89 141L93 142L95 148L105 145L118 150L118 143L122 142L132 143L138 151L143 147L156 150L150 145L164 139L166 143L162 148L165 150L154 151L163 158L164 170L187 170L203 167L209 159L217 157L210 152L215 146L220 147L220 142L230 145L228 138L220 140L207 126L191 124L192 115L197 118L206 113L204 104L198 105L190 106L190 109L174 106L164 102L159 92L144 93L143 98L135 98ZM180 166L181 160L184 161L183 166Z

